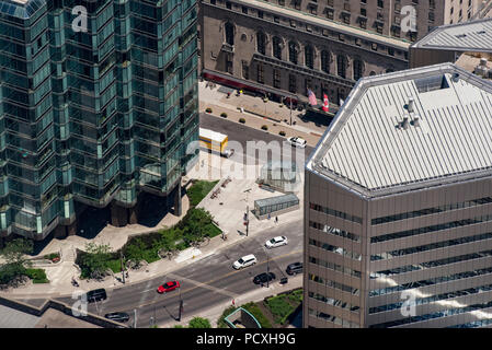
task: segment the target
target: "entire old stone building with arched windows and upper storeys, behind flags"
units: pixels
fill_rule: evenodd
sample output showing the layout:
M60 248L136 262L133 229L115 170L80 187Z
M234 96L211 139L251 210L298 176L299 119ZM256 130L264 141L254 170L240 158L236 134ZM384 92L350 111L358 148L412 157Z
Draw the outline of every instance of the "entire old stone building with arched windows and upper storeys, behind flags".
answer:
M202 75L276 101L307 103L310 89L335 110L359 78L407 69L411 43L479 9L477 0L202 0Z

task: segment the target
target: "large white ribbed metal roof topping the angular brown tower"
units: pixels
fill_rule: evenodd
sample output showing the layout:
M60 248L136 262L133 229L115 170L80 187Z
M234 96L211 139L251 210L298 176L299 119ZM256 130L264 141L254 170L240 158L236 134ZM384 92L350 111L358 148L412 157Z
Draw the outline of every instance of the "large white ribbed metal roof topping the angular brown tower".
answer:
M407 107L410 97L414 113ZM413 125L416 117L420 126ZM364 78L307 168L364 196L439 185L466 174L490 176L492 84L451 63Z

